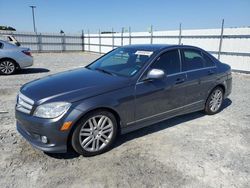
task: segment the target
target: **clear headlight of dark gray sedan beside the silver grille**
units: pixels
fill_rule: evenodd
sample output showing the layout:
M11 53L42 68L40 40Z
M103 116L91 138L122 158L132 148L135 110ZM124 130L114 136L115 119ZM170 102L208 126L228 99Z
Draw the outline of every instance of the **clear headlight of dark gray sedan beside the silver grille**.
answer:
M67 102L52 102L38 106L34 112L34 116L40 118L56 118L66 113L70 107Z

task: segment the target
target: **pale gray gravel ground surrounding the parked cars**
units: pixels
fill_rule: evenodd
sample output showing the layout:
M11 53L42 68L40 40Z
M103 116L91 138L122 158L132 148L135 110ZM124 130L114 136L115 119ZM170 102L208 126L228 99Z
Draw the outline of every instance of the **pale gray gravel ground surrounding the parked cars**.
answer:
M0 76L0 187L250 187L250 75L233 74L219 114L196 112L123 135L102 155L32 148L15 129L20 86L97 57L34 54L32 68Z

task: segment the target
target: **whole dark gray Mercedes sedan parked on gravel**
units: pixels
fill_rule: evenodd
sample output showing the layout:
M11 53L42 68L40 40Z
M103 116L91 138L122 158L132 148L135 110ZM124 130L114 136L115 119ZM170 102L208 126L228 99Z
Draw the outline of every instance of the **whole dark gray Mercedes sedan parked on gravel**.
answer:
M220 111L230 66L193 46L131 45L85 68L25 84L17 130L34 147L84 156L107 151L119 134L174 116Z

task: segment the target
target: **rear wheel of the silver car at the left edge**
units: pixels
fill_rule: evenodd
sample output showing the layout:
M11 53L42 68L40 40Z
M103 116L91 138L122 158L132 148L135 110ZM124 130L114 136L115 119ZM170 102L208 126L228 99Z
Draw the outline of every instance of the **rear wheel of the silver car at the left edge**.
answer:
M0 61L0 74L11 75L17 70L16 62L11 59L4 59Z

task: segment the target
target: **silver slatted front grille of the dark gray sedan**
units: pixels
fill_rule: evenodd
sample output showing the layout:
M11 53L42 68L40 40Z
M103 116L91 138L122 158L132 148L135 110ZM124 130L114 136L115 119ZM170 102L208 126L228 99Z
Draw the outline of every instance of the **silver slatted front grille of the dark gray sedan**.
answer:
M20 112L30 114L31 110L33 108L34 101L26 96L24 96L22 93L19 93L17 98L17 105L16 109Z

